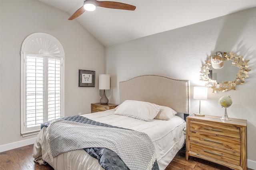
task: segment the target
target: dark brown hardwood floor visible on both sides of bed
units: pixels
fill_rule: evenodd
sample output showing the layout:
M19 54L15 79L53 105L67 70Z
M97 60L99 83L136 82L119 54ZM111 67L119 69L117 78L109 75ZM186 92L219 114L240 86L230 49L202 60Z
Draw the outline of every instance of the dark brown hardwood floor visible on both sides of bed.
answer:
M32 157L33 145L0 152L0 170L53 170L49 165L39 165ZM165 170L231 170L225 166L214 164L200 158L189 157L185 160L185 152L179 151ZM252 170L247 168L247 170Z

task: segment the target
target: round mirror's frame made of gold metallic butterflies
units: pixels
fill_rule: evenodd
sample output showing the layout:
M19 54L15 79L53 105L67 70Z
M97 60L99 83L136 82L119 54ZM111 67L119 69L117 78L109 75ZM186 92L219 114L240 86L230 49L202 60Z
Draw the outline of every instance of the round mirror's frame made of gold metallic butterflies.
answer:
M248 69L248 62L250 60L244 60L244 57L241 55L237 55L234 52L220 52L218 51L216 54L222 55L223 61L232 61L232 66L236 66L239 68L238 73L236 74L235 80L230 81L223 81L223 82L217 82L217 80L212 80L210 75L210 66L212 65L212 57L216 56L210 56L207 61L205 61L205 64L201 67L200 71L200 80L206 81L207 83L205 86L208 86L212 88L212 92L216 93L217 91L225 92L227 90L236 90L236 85L238 84L244 84L244 79L248 77L248 72L251 69Z

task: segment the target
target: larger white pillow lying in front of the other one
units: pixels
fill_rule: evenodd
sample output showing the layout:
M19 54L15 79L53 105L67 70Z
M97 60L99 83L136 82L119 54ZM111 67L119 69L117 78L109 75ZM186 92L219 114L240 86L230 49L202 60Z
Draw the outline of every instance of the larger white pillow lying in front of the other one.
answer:
M156 117L160 106L149 102L126 100L118 106L114 114L133 117L144 121L151 121Z

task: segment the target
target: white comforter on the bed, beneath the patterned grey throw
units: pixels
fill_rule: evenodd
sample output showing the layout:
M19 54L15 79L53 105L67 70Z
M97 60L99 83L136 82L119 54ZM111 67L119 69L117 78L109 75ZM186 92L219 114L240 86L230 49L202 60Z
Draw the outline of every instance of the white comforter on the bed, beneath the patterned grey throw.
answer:
M174 116L168 121L158 119L142 121L115 115L113 109L82 116L109 125L147 133L156 147L156 159L160 170L164 170L168 166L185 141L186 123L178 116ZM104 170L98 164L97 159L91 157L82 149L65 152L55 157L52 161L48 154L46 130L46 127L44 127L40 131L34 144L33 157L35 159L42 156L42 159L48 162L55 170Z

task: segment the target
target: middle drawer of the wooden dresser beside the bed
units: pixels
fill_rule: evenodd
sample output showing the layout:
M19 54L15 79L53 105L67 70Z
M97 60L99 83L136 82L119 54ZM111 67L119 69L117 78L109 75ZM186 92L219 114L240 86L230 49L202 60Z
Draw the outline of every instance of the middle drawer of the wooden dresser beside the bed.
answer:
M240 141L190 130L190 141L240 153Z

